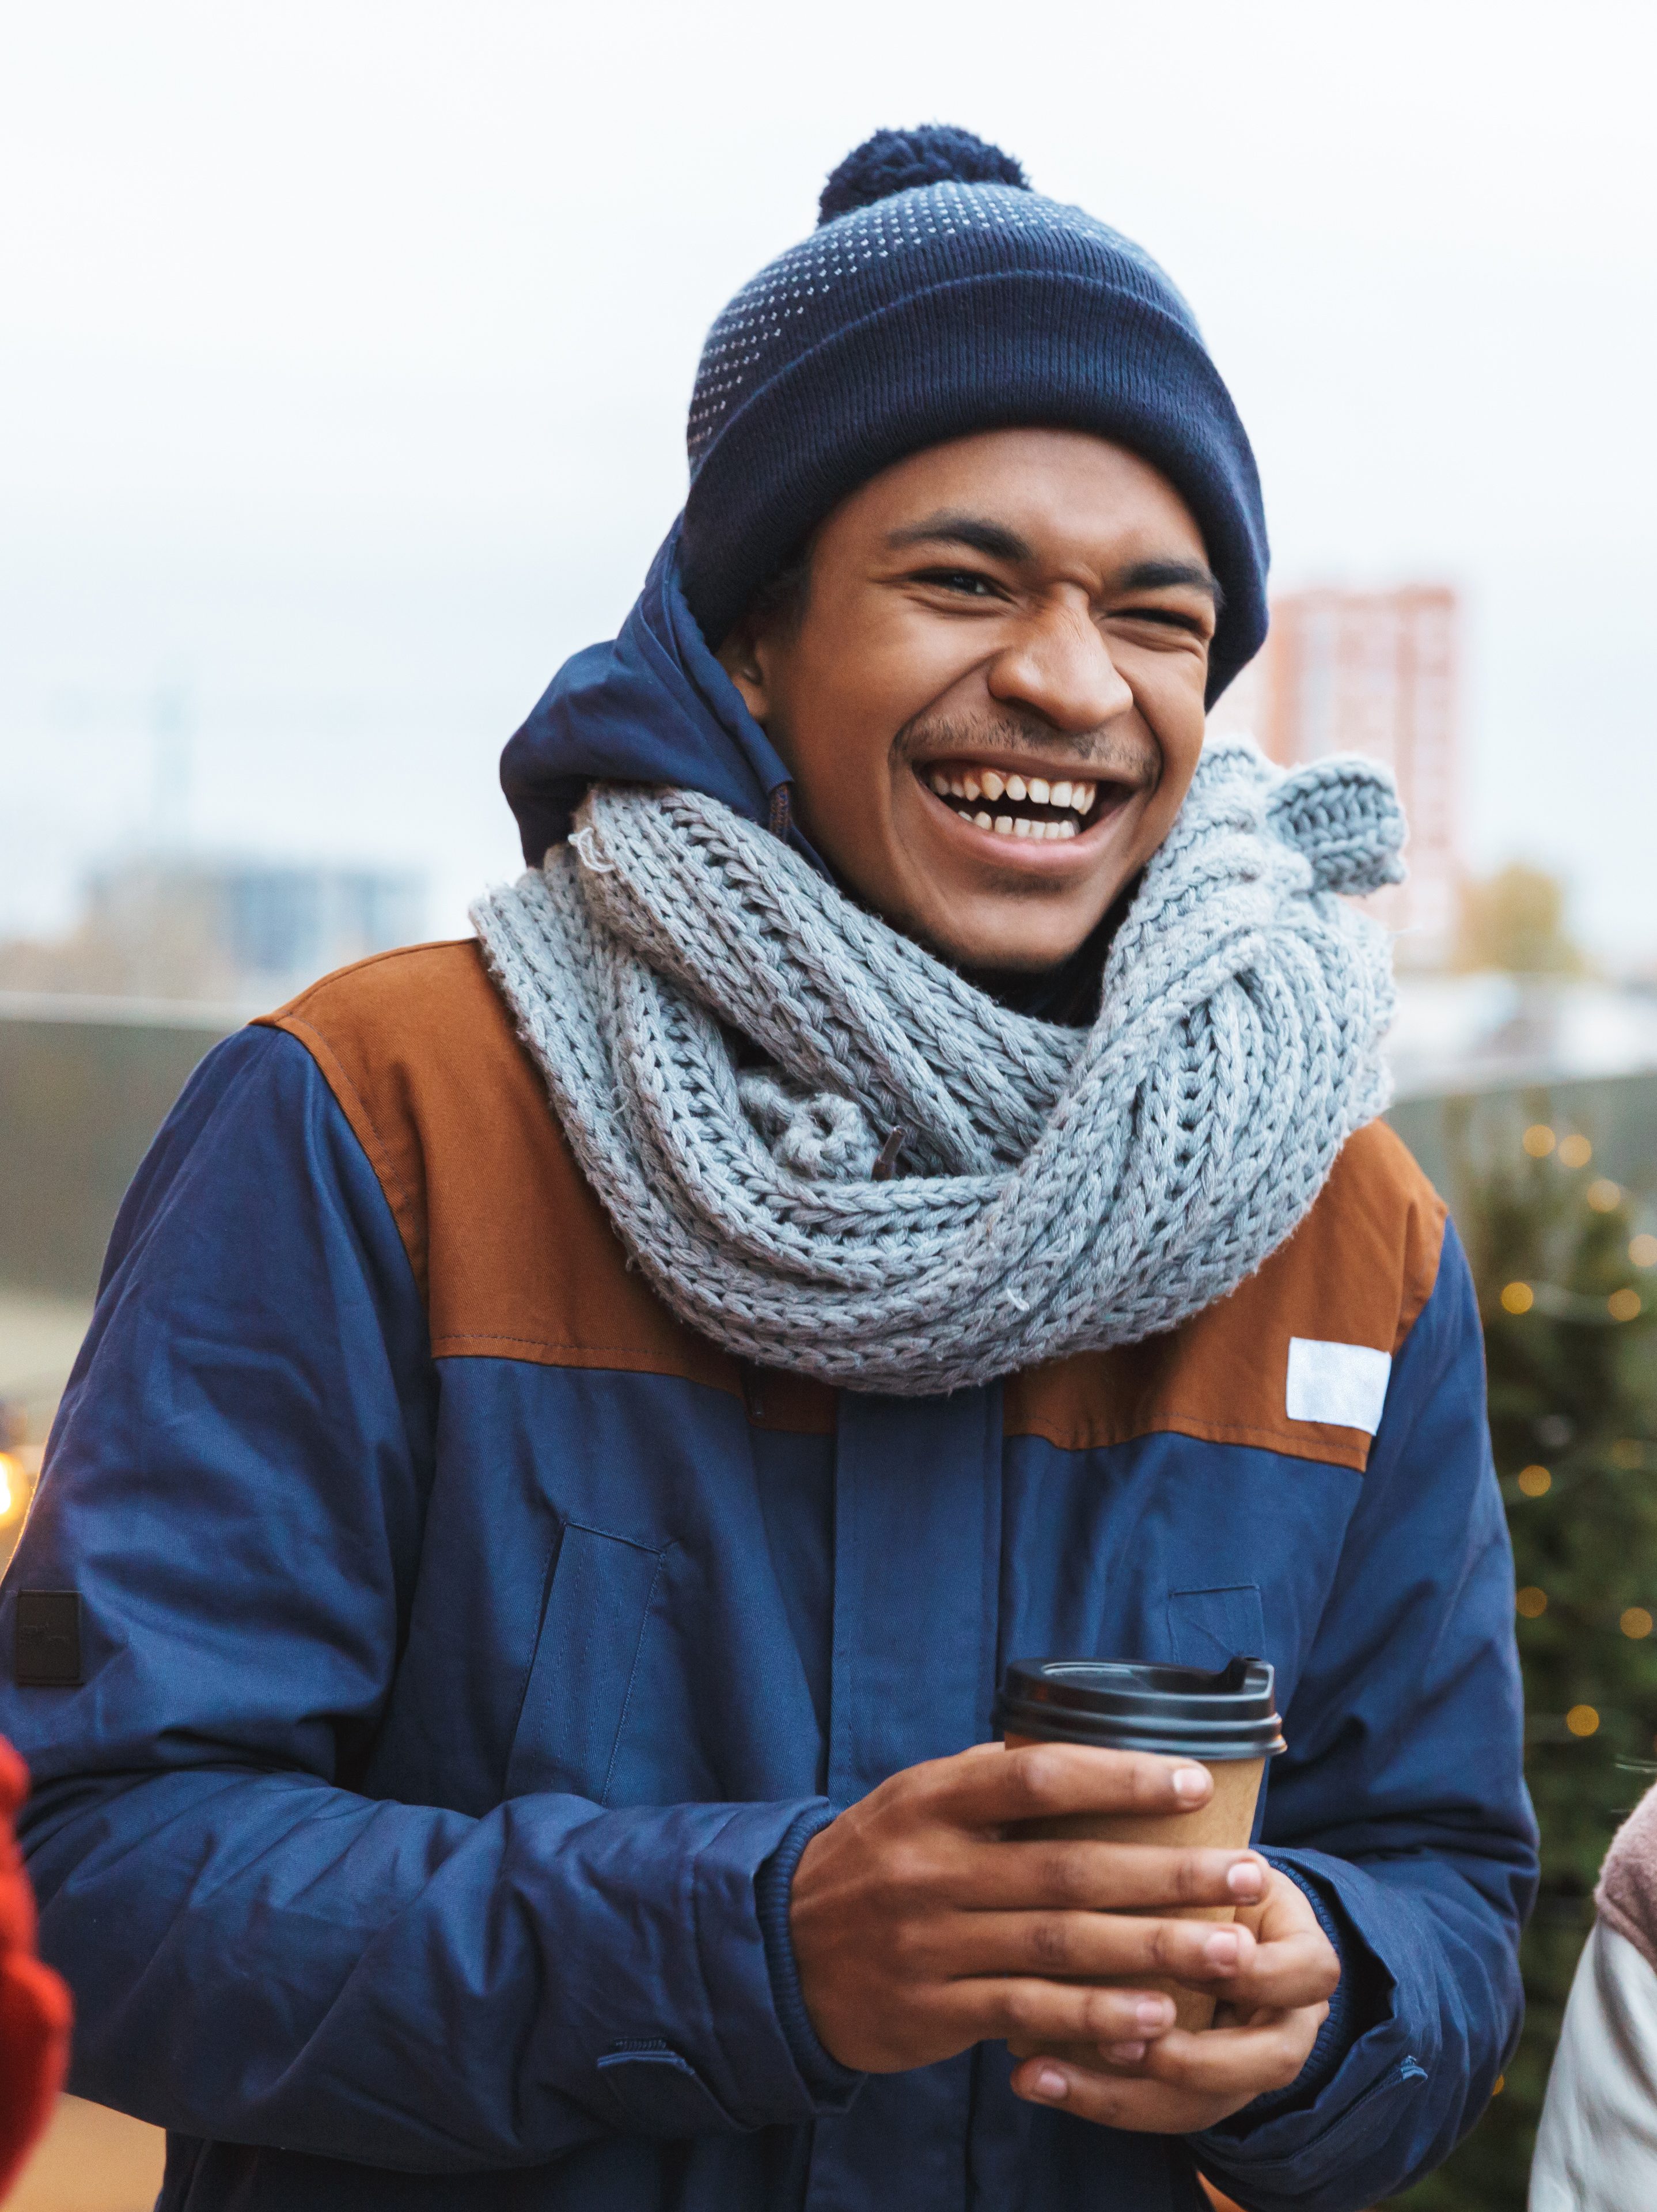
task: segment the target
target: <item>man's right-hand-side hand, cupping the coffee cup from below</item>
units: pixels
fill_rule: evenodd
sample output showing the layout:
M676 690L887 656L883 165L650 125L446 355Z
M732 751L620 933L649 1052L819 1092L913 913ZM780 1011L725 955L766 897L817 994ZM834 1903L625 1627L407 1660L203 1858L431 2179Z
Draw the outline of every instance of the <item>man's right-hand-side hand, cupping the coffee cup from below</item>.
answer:
M1026 2059L1013 2075L1018 2095L1106 2128L1192 2135L1265 2090L1288 2088L1330 2013L1341 1962L1305 1893L1274 1867L1263 1900L1237 1920L1237 1966L1210 1980L1221 1993L1212 2028L1104 2046L1100 2068ZM1215 1931L1212 1942L1226 1936L1232 1931Z

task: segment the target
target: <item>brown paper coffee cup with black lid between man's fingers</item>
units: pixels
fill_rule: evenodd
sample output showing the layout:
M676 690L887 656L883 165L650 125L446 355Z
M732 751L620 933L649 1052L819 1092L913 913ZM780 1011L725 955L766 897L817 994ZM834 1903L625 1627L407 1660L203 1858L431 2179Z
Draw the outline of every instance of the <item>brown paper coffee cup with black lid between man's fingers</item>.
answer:
M1069 1814L1026 1820L1020 1836L1080 1838L1088 1843L1144 1843L1170 1849L1243 1849L1254 1834L1254 1812L1265 1761L1281 1752L1283 1734L1272 1705L1272 1668L1263 1659L1232 1659L1219 1672L1186 1666L1148 1666L1133 1659L1015 1659L996 1703L996 1725L1007 1747L1022 1743L1088 1743L1108 1752L1161 1752L1190 1759L1215 1778L1212 1796L1195 1812ZM1234 1920L1234 1905L1102 1907L1144 1920ZM1157 1989L1175 2000L1175 2026L1208 2028L1217 1997L1161 1975L1106 1975L1102 1986ZM1093 2044L1031 2044L1033 2053L1097 2064Z

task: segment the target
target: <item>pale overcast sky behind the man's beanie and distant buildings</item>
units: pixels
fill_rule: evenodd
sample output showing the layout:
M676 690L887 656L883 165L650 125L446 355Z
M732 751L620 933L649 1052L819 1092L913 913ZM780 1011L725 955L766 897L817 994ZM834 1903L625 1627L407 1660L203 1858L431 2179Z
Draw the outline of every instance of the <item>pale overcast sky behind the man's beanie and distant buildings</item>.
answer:
M460 927L500 743L677 511L706 325L856 139L949 119L1168 265L1281 586L1465 591L1469 858L1657 956L1655 24L11 0L0 931L157 823L418 865Z

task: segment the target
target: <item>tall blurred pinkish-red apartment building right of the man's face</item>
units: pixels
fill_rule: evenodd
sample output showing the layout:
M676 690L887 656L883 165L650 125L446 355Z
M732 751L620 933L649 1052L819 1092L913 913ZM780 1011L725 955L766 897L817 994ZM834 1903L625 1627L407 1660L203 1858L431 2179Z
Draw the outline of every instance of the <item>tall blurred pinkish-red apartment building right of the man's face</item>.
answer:
M1403 967L1442 967L1460 880L1458 604L1445 584L1296 591L1217 728L1250 728L1285 768L1365 752L1398 779L1409 883L1369 900L1400 931Z

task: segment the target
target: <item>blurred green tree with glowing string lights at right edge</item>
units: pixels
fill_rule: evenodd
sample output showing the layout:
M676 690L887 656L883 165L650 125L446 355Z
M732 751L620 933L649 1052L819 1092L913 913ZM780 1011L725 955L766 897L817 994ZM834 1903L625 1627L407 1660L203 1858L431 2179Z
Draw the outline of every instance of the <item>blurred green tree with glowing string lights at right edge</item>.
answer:
M1593 1885L1657 1747L1657 1237L1544 1095L1462 1108L1456 1225L1484 1314L1491 1442L1513 1533L1526 1781L1542 1896L1524 2039L1462 2148L1394 2199L1515 2212ZM1633 2208L1630 2208L1633 2212Z

